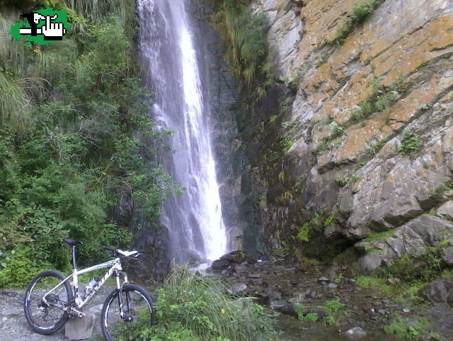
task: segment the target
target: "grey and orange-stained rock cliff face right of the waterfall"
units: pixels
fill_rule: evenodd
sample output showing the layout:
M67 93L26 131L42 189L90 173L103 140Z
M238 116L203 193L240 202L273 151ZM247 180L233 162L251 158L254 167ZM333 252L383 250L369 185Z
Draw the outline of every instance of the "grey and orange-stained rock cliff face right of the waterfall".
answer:
M453 3L366 2L253 1L280 83L239 119L258 250L452 257Z

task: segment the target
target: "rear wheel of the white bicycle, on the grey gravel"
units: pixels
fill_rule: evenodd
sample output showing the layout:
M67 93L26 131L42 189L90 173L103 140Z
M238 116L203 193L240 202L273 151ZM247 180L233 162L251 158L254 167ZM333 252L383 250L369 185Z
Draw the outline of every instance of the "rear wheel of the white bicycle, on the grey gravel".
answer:
M65 278L66 277L60 272L46 270L36 275L28 285L27 291L25 291L25 297L23 298L23 309L25 312L25 319L34 332L38 332L42 335L52 334L62 328L64 323L68 320L66 311L56 307L46 307L42 305L42 297L47 293L47 290L52 289L52 286L64 281ZM62 290L64 290L64 292L62 292ZM52 299L60 301L60 303L71 302L73 294L68 281L63 283L62 290L58 291L56 295L54 294ZM57 315L56 318L47 319L49 313L54 311L59 313L59 315ZM46 321L49 323L45 323ZM55 321L55 323L53 321Z

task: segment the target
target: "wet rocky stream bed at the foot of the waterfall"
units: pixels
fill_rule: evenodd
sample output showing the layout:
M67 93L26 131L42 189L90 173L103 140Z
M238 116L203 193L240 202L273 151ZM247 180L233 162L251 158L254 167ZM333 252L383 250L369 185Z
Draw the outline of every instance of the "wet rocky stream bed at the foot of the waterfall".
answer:
M243 259L223 258L213 263L212 271L234 283L233 294L256 297L277 315L280 340L400 340L384 332L384 326L398 317L407 318L409 326L426 318L425 340L453 340L453 308L446 302L451 279L427 286L424 291L430 301L415 304L362 289L348 276L348 267L304 267L285 259L239 263L236 260ZM343 304L337 313L328 309L332 301ZM316 313L318 320L299 320L297 305L304 306L304 314ZM329 320L335 323L329 324ZM442 338L431 337L431 333Z

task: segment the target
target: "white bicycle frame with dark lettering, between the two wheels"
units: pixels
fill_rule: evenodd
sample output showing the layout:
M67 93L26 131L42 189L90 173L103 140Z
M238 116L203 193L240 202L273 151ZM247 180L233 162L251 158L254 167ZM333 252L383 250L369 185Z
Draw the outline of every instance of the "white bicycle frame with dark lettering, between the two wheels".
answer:
M88 296L86 296L86 297L83 297L81 294L79 294L79 275L88 274L88 272L93 272L94 270L103 269L106 267L110 267L110 269L108 269L108 272L105 273L105 275L101 278L101 280L98 282L98 284L96 284L96 286L93 287L93 290L91 291L91 293L88 294ZM118 290L120 290L121 286L122 286L122 284L120 284L120 274L122 274L122 276L123 276L123 284L128 283L127 274L122 271L120 258L111 259L108 262L96 264L96 265L93 265L92 267L87 267L86 269L77 270L76 268L74 268L74 271L72 272L72 274L67 276L62 282L57 284L57 286L53 287L50 291L47 291L47 293L42 297L42 301L50 306L55 306L57 308L61 308L64 311L69 311L70 302L68 302L68 306L62 306L61 304L58 304L58 303L50 303L49 301L47 301L46 297L49 294L51 294L52 291L55 291L60 286L62 286L64 284L64 282L72 279L72 287L74 288L76 307L82 308L91 299L91 297L93 297L94 294L96 294L96 292L99 289L101 289L101 286L103 286L103 284L105 284L105 281L107 281L110 278L110 276L112 276L113 274L115 274L115 277L116 277L116 284L117 284ZM76 312L81 313L79 311L76 311Z

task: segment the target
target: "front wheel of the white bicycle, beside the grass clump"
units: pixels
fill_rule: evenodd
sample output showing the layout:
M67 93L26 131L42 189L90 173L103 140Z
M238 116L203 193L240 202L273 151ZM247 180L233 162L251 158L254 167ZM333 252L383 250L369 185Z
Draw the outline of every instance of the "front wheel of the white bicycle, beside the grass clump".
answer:
M140 330L155 324L154 300L142 286L126 283L121 292L115 290L105 300L101 313L101 328L105 340L136 340L134 337L138 339Z

